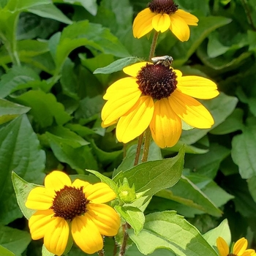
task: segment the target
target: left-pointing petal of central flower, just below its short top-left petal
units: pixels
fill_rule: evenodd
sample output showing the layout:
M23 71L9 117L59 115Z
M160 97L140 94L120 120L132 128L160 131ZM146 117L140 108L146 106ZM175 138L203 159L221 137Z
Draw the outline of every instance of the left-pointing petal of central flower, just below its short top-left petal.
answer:
M135 78L121 78L108 87L103 99L116 99L116 97L133 94L135 91L139 91L138 87Z

